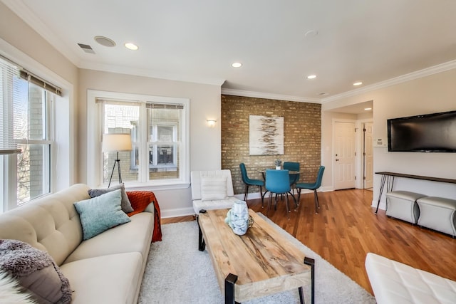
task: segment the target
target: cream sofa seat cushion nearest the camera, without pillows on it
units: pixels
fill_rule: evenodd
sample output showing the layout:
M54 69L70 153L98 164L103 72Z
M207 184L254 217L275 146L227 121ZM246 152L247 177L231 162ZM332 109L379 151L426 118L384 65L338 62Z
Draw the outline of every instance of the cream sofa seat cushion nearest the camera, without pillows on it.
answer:
M136 303L142 264L142 256L138 252L63 264L61 271L71 281L74 290L71 304Z

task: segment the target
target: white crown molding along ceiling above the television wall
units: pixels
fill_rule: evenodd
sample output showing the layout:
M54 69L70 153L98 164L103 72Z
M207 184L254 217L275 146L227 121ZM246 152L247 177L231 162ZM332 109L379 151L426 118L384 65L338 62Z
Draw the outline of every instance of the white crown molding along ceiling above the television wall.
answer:
M348 98L348 97L355 96L355 95L361 95L363 93L368 93L368 92L371 92L373 90L379 90L381 88L388 88L391 85L397 85L399 83L405 83L405 82L410 81L410 80L415 80L415 79L418 79L418 78L423 78L423 77L434 75L434 74L437 74L437 73L442 73L442 72L445 72L447 70L452 70L452 69L455 69L455 68L456 68L456 60L448 61L446 63L441 63L439 65L431 66L430 68L423 68L423 70L417 70L417 71L412 72L412 73L408 73L408 74L401 75L401 76L398 76L398 77L395 77L395 78L391 78L391 79L388 79L388 80L385 80L385 81L381 81L380 83L374 83L373 85L366 85L366 87L364 87L364 88L359 88L359 89L356 89L356 90L350 90L350 91L345 92L345 93L333 95L333 96L328 97L328 98L323 98L323 99L321 99L321 103L322 104L323 103L330 103L331 101L339 100L339 99L342 99L342 98Z

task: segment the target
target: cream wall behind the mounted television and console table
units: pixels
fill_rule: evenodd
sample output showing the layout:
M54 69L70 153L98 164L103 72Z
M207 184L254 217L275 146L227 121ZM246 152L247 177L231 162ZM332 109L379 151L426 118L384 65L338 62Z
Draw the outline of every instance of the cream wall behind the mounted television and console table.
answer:
M410 80L369 93L341 98L324 104L322 111L373 100L373 138L387 142L386 120L432 112L456 110L456 69ZM324 130L323 134L328 131ZM456 179L456 153L388 152L387 147L374 148L374 172L389 171L430 177ZM380 175L374 175L373 204L376 206ZM396 179L395 189L426 195L456 198L455 184ZM383 194L380 208L385 208Z

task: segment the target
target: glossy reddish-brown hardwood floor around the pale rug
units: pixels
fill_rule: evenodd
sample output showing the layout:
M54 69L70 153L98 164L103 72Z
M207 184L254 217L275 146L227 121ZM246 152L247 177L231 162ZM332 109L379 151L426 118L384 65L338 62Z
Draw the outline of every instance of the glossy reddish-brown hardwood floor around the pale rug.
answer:
M286 218L285 201L279 199L277 210L269 211L269 219L370 293L364 267L368 252L456 281L456 239L388 218L383 210L375 215L372 195L362 189L319 192L321 208L315 214L314 194L303 194L299 208L291 209L290 219ZM260 199L249 200L248 204L266 214L267 201L264 208ZM162 224L192 220L193 216L183 216L162 219Z

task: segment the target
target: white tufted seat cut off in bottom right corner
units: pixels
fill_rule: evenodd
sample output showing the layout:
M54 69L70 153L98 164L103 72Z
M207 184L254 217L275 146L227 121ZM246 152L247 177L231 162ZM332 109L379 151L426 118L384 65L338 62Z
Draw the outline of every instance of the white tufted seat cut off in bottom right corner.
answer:
M366 271L378 304L456 303L456 282L390 260L366 256Z

